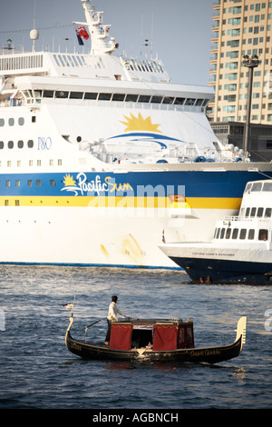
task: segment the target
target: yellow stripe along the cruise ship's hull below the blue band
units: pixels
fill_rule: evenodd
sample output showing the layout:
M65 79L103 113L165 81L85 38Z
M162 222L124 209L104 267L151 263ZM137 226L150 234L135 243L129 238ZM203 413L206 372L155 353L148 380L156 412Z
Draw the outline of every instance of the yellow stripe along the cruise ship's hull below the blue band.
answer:
M128 207L179 209L238 210L240 198L188 197L185 203L170 202L169 197L102 197L102 196L0 196L0 206L74 206L74 207Z

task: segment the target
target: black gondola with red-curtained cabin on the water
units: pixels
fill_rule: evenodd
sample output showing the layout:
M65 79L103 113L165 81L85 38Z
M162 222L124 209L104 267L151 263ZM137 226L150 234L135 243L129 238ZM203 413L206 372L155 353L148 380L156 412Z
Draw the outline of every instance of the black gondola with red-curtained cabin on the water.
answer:
M128 362L218 363L237 357L246 343L247 317L238 320L234 343L215 347L194 345L193 321L189 318L152 320L129 319L113 322L110 343L96 344L71 335L73 313L65 335L68 350L86 360Z

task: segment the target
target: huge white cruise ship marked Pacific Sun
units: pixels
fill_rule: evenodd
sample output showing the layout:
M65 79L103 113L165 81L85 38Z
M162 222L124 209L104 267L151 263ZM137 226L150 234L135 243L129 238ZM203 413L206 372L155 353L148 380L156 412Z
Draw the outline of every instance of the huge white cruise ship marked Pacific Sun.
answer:
M32 52L0 51L0 263L180 268L160 243L209 239L272 164L219 143L211 87L118 55L81 4L88 54L38 52L35 29Z

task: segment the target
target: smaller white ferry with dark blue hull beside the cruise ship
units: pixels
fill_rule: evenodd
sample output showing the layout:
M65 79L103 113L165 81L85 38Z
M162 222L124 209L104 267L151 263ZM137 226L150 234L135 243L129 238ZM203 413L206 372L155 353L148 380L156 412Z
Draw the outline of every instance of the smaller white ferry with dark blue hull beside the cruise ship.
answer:
M210 242L160 249L193 282L272 283L272 181L248 183L238 216L219 220Z

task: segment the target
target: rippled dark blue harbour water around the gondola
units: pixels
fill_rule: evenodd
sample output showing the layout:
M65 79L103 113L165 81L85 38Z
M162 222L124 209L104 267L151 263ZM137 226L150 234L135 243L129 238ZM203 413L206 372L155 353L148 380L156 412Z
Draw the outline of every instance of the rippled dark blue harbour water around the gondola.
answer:
M1 266L1 409L268 409L272 406L271 286L191 284L175 271ZM217 365L86 362L64 335L104 340L112 294L135 317L193 317L195 344L232 343L248 316L240 356Z

